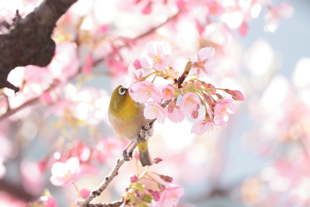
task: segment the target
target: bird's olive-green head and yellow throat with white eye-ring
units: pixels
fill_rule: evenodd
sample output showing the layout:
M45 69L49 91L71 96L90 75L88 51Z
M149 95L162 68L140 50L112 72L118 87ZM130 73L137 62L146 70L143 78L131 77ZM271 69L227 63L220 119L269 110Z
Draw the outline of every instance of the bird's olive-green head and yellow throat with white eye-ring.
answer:
M108 110L117 118L130 120L137 115L139 103L131 99L127 88L119 85L112 93Z

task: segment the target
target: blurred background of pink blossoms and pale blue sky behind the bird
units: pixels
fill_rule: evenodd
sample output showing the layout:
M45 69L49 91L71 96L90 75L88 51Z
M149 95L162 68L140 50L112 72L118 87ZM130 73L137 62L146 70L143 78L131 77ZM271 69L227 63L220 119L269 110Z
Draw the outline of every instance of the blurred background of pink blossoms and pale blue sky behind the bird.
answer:
M24 17L41 2L0 0L1 34L16 9ZM188 116L155 122L149 150L163 161L150 169L183 186L178 206L308 206L308 8L303 0L78 0L57 22L51 63L15 68L8 81L20 92L1 90L0 206L74 204L73 185L50 182L53 164L71 157L80 190L103 181L128 142L108 122L111 94L151 40L169 43L180 73L201 48L215 48L212 84L245 97L226 126L201 136ZM134 173L135 161L126 162L92 202L120 200Z

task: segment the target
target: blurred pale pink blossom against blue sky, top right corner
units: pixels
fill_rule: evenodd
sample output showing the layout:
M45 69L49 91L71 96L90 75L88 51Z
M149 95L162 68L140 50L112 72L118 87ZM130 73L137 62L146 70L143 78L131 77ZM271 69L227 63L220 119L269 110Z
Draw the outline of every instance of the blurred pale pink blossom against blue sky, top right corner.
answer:
M294 7L290 3L281 2L279 6L271 8L264 16L265 32L275 32L280 24L280 18L288 19L293 16Z

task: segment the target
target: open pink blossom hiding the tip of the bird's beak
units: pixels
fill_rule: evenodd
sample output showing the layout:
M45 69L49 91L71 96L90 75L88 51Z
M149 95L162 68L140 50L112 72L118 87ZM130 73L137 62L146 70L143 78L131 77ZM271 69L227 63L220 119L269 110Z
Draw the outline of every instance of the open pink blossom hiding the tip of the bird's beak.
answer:
M162 101L162 96L159 90L153 83L148 81L133 83L130 89L129 94L136 102L146 102L149 98L152 98L156 103L160 103Z

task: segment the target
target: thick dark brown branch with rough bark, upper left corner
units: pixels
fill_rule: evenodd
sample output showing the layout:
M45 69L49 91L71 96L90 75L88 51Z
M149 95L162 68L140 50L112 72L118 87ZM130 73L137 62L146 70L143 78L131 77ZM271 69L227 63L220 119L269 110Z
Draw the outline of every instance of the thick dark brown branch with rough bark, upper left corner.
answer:
M17 21L7 34L0 35L0 88L19 88L7 81L7 75L17 66L47 66L55 54L51 34L57 20L77 0L45 0L22 19L16 11Z

